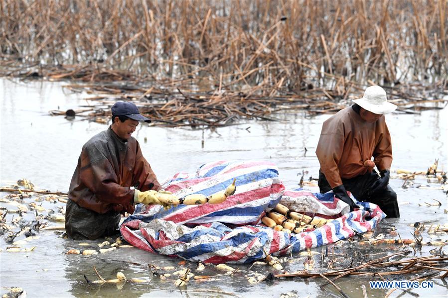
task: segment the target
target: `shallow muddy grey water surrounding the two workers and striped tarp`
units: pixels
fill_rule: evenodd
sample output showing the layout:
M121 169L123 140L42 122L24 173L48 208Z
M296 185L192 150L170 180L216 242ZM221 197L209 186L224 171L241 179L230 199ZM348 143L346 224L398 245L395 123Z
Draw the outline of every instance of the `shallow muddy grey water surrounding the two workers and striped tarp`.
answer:
M107 128L106 125L82 118L69 121L62 116L49 116L48 111L52 109L65 110L88 104L83 100L86 95L64 94L61 88L63 85L64 83L35 81L25 84L0 80L0 185L27 178L39 189L66 192L82 145L91 136ZM279 122L248 121L214 131L141 126L134 136L139 140L145 157L160 181L179 171L195 170L208 161L266 159L278 165L280 177L287 188L296 188L302 170L305 171L305 178L317 177L318 161L314 150L321 124L329 115L309 118L296 113L278 117L281 118ZM447 170L447 119L448 109L424 111L415 115L388 115L387 122L394 148L393 169L426 170L435 158L439 158L440 167ZM401 188L402 183L398 179L391 181L391 186L398 194L402 217L399 220L384 220L375 234L388 232L395 226L403 238L411 238L409 232L413 228L409 225L415 221L447 222L447 215L444 214L444 209L448 209L447 197L441 190L405 190ZM416 183L427 184L425 180L417 180ZM438 187L435 184L430 186ZM310 190L316 191L315 188ZM5 194L1 194L1 197L4 196ZM419 206L424 201L434 202L432 199L441 201L442 206ZM5 203L0 205L7 207ZM42 204L53 209L61 205L47 201ZM13 215L17 216L8 214L6 221L10 222ZM30 220L32 216L28 212L25 218ZM32 245L36 246L33 252L0 253L1 295L5 293L4 287L13 286L23 288L32 297L205 297L210 293L217 297L231 297L223 292L241 297L279 297L281 293L291 290L297 290L300 297L331 295L320 290L321 280L275 280L250 285L243 277L244 273L233 278L219 277L220 280L215 282L190 282L182 292L173 286L172 279L127 283L123 288L113 284L87 284L83 275L91 280L97 279L93 265L105 279L115 278L118 271L123 271L128 278L135 278L148 277L148 263L156 266L179 266L180 259L153 255L136 248L123 248L95 256L64 255L68 249L80 248L80 242L64 240L52 231L41 231L39 236L39 239L32 241ZM441 238L445 240L446 236ZM4 236L0 239L1 249L4 250L7 246ZM424 234L424 241L429 240L429 235ZM98 241L91 242L92 247L96 247L96 243ZM434 247L424 246L417 256L428 255L432 248ZM397 249L399 247L389 246L370 247L366 250L355 246L358 254L367 254L370 258L384 255L381 252L390 253ZM320 252L320 248L315 250ZM342 256L348 253L350 256L353 249L338 248L335 252ZM374 255L375 253L380 254ZM303 269L303 257L295 257L287 265L290 272ZM187 265L191 269L195 268L195 264ZM316 267L319 266L320 264ZM326 264L322 266L326 268ZM248 266L239 267L242 270L248 269ZM257 271L266 274L270 270L258 268ZM200 275L218 273L207 266ZM402 277L401 280L407 278L409 277ZM371 290L368 284L370 280L372 278L346 278L337 284L350 297L362 297L361 285L366 286L369 297L384 297L387 290ZM329 286L325 289L338 295ZM210 293L207 294L207 291ZM448 293L447 284L440 279L434 280L434 288L431 290L415 289L413 292L422 297L440 297ZM396 291L392 297L401 293L403 292Z

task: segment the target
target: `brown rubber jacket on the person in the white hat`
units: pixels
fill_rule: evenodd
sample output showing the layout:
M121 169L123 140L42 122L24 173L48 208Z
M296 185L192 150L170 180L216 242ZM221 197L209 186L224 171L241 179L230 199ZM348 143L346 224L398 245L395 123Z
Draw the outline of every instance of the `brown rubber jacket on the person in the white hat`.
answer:
M372 156L379 171L390 170L392 143L385 117L369 123L351 106L340 110L323 122L316 155L331 188L341 185L341 178L367 173L364 161Z

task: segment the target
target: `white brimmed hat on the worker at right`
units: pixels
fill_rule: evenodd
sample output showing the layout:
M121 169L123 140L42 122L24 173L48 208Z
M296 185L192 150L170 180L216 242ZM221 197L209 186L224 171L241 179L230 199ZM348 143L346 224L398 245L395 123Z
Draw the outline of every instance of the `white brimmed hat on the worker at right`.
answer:
M375 114L388 114L397 109L395 104L387 101L386 91L380 86L368 87L362 98L353 101Z

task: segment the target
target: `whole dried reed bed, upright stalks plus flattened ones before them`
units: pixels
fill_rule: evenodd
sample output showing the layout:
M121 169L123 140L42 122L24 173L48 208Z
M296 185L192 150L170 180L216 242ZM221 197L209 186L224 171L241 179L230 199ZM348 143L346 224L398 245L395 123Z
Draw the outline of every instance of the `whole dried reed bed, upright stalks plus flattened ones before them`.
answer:
M426 99L439 108L447 89L447 3L0 0L0 76L113 82L82 88L134 99L167 125L333 112L367 84L393 86L414 113ZM404 84L425 78L439 94Z

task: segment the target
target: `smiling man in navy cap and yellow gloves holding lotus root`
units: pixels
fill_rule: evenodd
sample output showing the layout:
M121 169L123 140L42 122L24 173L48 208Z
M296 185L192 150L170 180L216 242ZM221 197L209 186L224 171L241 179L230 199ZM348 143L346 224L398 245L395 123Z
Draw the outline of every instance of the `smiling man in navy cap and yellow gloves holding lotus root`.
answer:
M84 144L68 193L68 237L93 240L116 234L121 214L133 213L134 204L161 204L149 190L164 191L131 136L139 121L151 122L134 103L117 101L112 125Z

